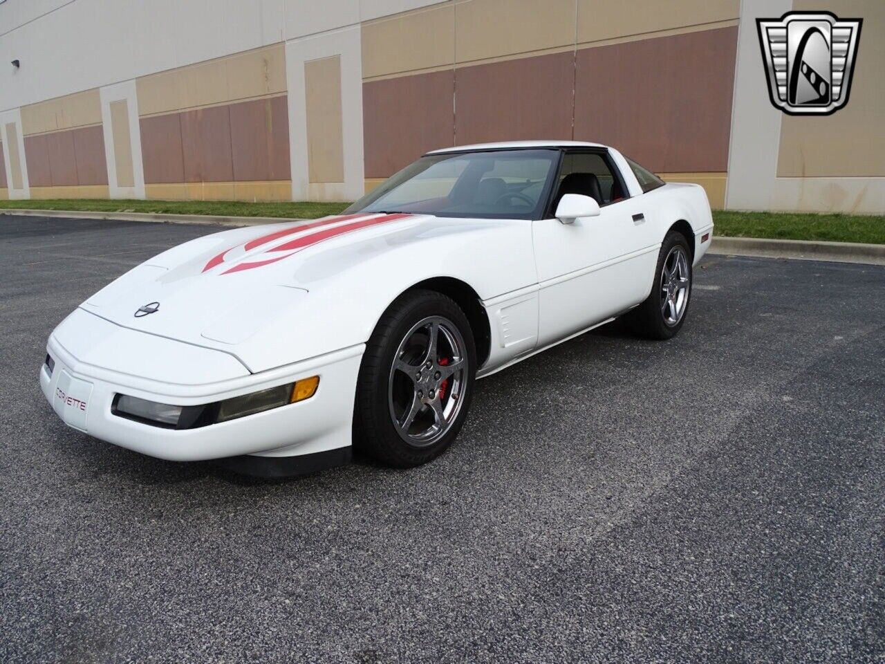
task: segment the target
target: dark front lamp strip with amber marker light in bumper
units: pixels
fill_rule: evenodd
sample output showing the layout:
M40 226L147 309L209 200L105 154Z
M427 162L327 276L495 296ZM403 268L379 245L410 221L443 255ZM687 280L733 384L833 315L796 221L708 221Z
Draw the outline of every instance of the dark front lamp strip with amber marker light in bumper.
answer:
M304 401L316 394L318 387L319 376L315 375L212 404L183 406L118 394L114 397L111 410L127 420L164 429L198 429Z

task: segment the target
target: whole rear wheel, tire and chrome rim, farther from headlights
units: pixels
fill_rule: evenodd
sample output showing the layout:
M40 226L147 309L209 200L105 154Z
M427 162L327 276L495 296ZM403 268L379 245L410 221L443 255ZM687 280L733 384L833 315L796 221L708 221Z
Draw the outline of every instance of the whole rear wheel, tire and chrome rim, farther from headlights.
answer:
M691 252L681 233L664 238L649 297L627 315L635 331L650 339L669 339L679 332L689 313Z

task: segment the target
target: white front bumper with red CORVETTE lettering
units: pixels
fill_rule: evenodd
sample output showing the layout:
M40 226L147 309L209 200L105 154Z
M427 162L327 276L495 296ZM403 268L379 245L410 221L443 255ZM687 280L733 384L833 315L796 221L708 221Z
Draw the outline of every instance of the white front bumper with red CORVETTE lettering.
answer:
M176 461L221 459L244 454L281 458L350 447L362 344L260 374L238 375L203 384L181 384L98 366L92 349L82 349L81 354L89 355L90 361L87 362L78 357L76 350L64 344L73 341L76 345L76 337L61 336L61 339L56 333L50 336L47 351L55 360L55 367L51 375L48 367L41 368L40 385L58 416L89 436L152 457ZM162 357L165 345L159 346L158 351L156 338L151 343L154 344L152 350L159 355L153 360L160 364L168 361ZM174 352L181 352L180 346L187 345L167 339L161 344L174 344L169 346ZM193 346L186 350L209 362L214 354L214 351ZM133 351L137 352L138 348ZM165 404L201 405L317 374L319 388L312 398L199 429L163 429L112 413L112 402L117 394Z

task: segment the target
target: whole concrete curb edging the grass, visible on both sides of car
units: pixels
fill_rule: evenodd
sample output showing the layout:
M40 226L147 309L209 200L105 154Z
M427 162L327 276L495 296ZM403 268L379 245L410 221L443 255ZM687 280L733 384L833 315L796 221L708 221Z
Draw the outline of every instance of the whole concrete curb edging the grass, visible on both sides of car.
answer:
M285 217L213 217L204 214L157 214L153 212L65 212L59 210L0 210L0 215L55 217L59 219L101 219L111 221L152 221L170 224L212 226L259 226L284 221ZM764 259L828 260L837 263L885 265L885 244L809 242L805 240L766 240L754 237L714 235L709 253L752 256Z

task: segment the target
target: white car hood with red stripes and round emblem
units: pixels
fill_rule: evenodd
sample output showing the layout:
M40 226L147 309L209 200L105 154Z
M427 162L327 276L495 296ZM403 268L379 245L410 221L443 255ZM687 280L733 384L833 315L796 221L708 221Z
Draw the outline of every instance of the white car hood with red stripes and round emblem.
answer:
M419 265L429 266L441 246L480 255L481 246L495 242L483 232L499 236L505 227L500 220L397 213L237 228L159 254L81 309L125 328L229 352L254 372L362 343L371 328L363 330L361 319L359 331L347 331L356 326L346 317L368 304L383 311L390 301L384 298L421 276L403 265L405 257L421 254L430 260ZM530 244L530 230L525 240ZM387 290L396 288L390 296Z

